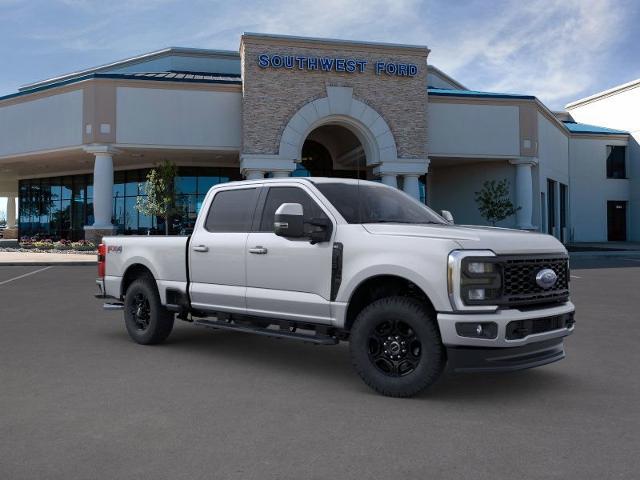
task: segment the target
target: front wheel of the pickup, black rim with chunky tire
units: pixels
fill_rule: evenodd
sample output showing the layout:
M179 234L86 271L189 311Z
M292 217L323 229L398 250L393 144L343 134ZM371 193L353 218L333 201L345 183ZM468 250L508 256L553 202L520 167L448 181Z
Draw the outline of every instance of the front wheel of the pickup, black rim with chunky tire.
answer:
M366 307L350 334L351 361L364 382L389 397L410 397L444 369L433 313L419 300L388 297Z

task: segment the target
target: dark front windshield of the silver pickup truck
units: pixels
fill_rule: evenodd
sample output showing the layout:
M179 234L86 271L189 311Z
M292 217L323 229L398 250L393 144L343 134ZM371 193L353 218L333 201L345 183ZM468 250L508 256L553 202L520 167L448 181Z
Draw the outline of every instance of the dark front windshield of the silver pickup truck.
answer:
M446 222L411 197L394 188L362 183L316 183L348 223Z

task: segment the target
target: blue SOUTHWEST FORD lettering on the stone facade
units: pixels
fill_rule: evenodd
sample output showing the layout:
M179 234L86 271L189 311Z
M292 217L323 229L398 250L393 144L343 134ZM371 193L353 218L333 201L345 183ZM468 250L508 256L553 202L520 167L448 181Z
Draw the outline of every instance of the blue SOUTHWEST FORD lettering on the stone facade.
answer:
M364 73L372 68L376 75L414 77L418 66L413 63L373 62L369 67L367 60L335 57L301 57L297 55L258 55L260 68L286 68L289 70L307 70L320 72Z

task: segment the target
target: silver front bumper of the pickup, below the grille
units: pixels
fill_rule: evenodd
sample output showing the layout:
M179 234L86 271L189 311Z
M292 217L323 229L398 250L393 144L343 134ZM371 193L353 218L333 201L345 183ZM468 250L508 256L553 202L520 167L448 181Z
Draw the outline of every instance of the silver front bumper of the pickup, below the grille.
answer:
M543 342L545 340L558 339L570 335L574 330L574 324L542 333L532 333L524 335L522 338L509 339L507 335L507 325L510 322L522 320L535 320L558 317L563 315L573 316L575 307L573 303L566 302L550 308L536 310L518 310L509 308L497 310L492 313L438 313L438 326L442 343L446 347L485 347L485 348L508 348L521 347L532 343ZM458 334L456 324L479 324L493 322L497 325L497 335L495 338L463 337Z

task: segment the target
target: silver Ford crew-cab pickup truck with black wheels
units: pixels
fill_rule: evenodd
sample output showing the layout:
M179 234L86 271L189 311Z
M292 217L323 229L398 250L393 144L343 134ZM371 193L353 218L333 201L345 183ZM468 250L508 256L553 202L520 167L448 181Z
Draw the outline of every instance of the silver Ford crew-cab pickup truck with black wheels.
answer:
M131 338L196 325L332 345L389 396L445 365L495 372L564 358L574 329L555 238L454 225L380 183L285 178L213 187L190 237L105 237L98 296Z

